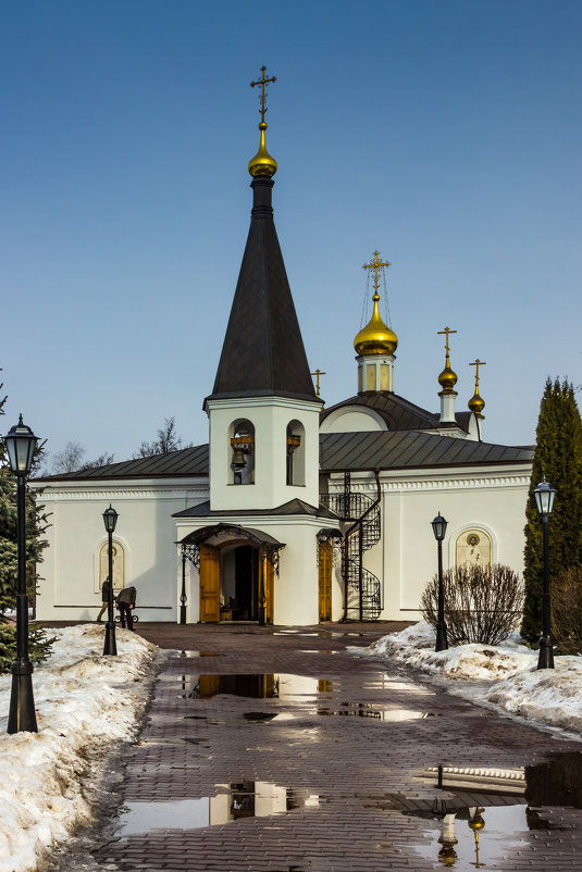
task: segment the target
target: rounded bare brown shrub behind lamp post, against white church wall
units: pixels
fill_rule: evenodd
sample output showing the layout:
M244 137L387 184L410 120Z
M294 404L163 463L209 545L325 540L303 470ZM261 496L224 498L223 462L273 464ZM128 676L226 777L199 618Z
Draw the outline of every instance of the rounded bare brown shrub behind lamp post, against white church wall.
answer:
M493 566L462 565L443 573L445 621L453 645L482 643L498 645L516 628L523 607L523 584L517 572ZM424 620L436 627L438 619L438 575L422 594Z

